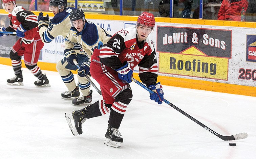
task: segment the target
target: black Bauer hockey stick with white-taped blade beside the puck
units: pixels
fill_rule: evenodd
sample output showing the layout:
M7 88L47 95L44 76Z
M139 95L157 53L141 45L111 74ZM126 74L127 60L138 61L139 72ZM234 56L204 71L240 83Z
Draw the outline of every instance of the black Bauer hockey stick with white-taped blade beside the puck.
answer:
M146 89L147 91L149 91L150 93L153 93L152 90L150 90L148 87L146 87L144 84L142 84L141 82L137 81L136 79L134 79L133 77L131 78L131 80L135 83L137 83L138 85L140 85L141 87L143 87L144 89ZM172 103L168 102L167 100L164 99L164 102L166 104L168 104L169 106L173 107L174 109L176 109L177 111L179 111L180 113L182 113L183 115L187 116L188 118L190 118L190 120L194 121L196 124L200 125L201 127L205 128L206 130L208 130L210 133L216 135L217 137L221 138L222 140L225 141L229 141L229 140L239 140L239 139L243 139L243 138L247 138L248 134L247 133L240 133L240 134L236 134L236 135L231 135L231 136L223 136L220 135L218 133L216 133L215 131L213 131L212 129L210 129L209 127L205 126L204 124L202 124L201 122L197 121L195 118L193 118L192 116L190 116L189 114L187 114L186 112L184 112L183 110L179 109L178 107L176 107L175 105L173 105Z

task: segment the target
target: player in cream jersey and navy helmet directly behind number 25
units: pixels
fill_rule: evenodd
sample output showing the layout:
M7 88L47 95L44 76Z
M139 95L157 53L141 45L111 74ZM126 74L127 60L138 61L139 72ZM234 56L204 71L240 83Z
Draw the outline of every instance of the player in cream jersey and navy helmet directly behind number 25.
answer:
M84 12L80 8L72 10L69 18L71 23L71 29L70 32L67 34L67 37L65 38L64 54L67 62L75 66L75 64L73 63L73 59L79 61L79 54L74 51L74 44L79 43L84 53L88 56L88 58L91 58L93 50L98 47L98 43L100 41L103 42L103 44L107 43L111 35L99 25L95 25L91 22L86 21ZM84 61L83 64L79 65L81 69L85 70L85 74L78 72L78 77L82 78L88 75L90 70L90 61ZM79 86L81 85L79 84ZM86 85L84 85L84 87L86 87ZM73 99L72 105L91 104L91 93L92 90L88 95L84 94L82 97Z

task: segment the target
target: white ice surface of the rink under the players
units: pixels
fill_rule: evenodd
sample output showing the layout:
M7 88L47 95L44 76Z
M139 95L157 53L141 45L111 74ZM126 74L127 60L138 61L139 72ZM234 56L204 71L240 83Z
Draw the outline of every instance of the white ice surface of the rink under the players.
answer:
M51 87L36 87L37 78L22 69L24 86L9 86L12 67L0 64L0 159L256 158L256 97L163 86L166 100L217 133L248 133L223 141L169 105L151 101L132 82L133 99L119 129L124 142L115 149L103 143L109 114L88 119L83 134L73 136L64 114L84 106L61 99L67 89L57 72L43 71ZM93 102L102 99L91 89Z

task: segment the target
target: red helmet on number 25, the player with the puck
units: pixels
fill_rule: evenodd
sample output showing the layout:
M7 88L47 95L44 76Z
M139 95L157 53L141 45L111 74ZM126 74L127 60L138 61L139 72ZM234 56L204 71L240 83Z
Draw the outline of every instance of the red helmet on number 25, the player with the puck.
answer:
M155 17L152 13L144 11L140 16L138 16L137 23L146 25L149 27L155 26Z

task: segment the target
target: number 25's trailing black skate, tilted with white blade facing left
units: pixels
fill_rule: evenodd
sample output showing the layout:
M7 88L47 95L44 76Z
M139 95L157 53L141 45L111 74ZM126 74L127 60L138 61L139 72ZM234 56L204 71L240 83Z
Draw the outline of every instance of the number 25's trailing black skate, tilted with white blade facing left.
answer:
M68 126L74 136L78 134L82 134L82 125L86 121L86 114L87 108L83 108L81 110L74 110L72 113L65 113L65 117L68 123ZM72 122L71 122L72 120Z

